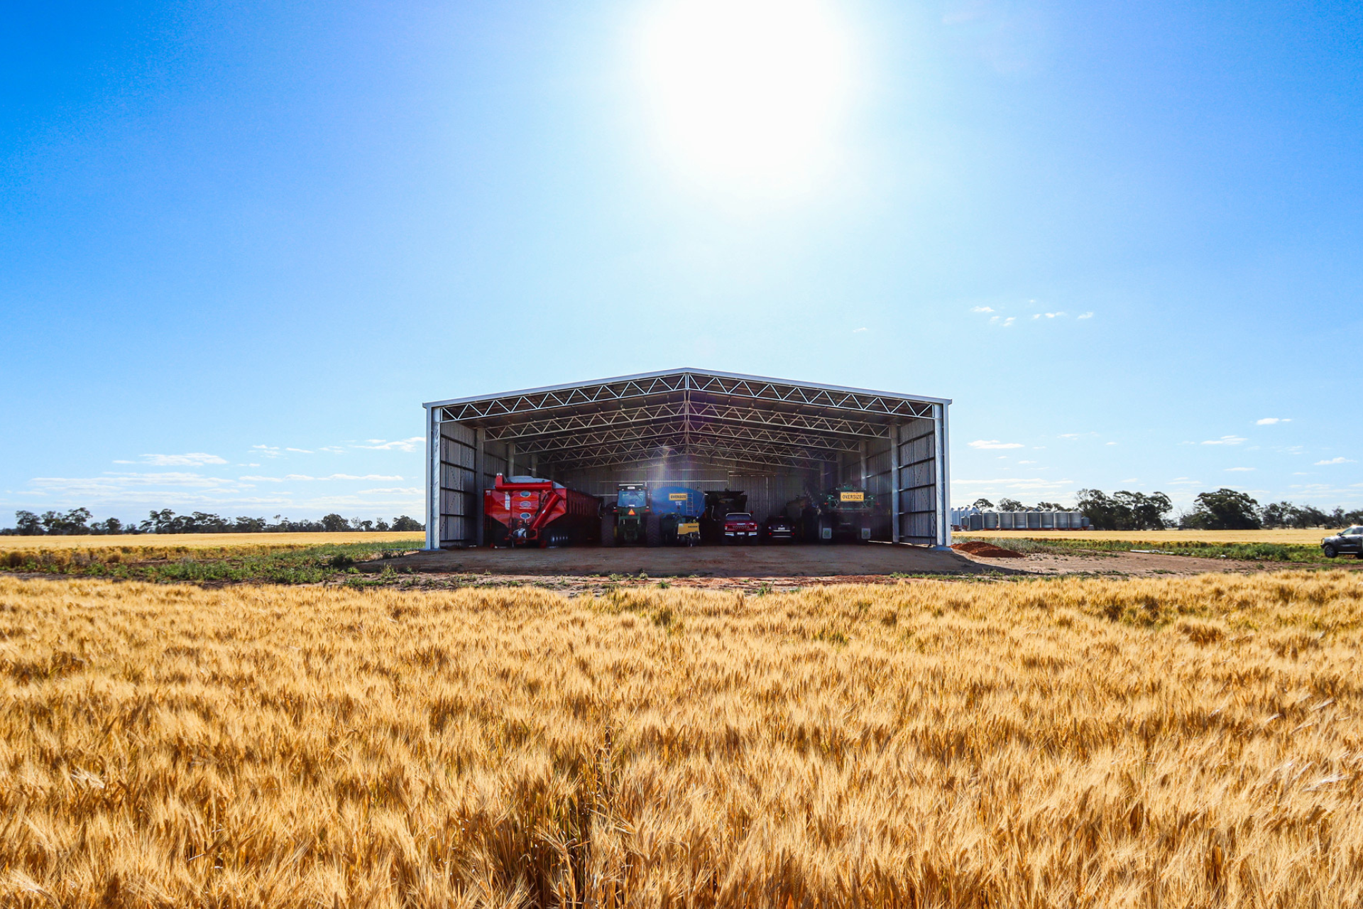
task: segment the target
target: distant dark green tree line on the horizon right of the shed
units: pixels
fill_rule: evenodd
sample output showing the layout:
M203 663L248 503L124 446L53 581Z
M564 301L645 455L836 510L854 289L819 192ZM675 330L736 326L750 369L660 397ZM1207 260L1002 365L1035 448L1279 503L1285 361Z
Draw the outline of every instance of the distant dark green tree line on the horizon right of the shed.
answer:
M1112 495L1100 489L1079 489L1073 508L1054 502L1039 502L1029 507L1015 499L1000 499L996 506L988 499L976 499L975 507L981 511L1082 511L1096 530L1161 530L1164 527L1258 530L1261 527L1343 527L1363 523L1363 508L1322 511L1315 506L1295 506L1291 502L1261 506L1250 495L1225 488L1199 493L1194 499L1193 508L1176 518L1167 517L1174 511L1174 503L1163 492L1148 495L1126 489Z

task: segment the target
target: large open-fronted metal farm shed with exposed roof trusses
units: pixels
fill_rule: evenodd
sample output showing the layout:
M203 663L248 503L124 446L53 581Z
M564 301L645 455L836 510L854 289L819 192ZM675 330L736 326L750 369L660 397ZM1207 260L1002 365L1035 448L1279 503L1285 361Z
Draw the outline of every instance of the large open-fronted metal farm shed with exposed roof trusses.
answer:
M432 401L427 548L483 545L481 491L499 473L597 496L620 482L741 489L759 521L857 482L876 496L874 538L945 546L950 403L709 369Z

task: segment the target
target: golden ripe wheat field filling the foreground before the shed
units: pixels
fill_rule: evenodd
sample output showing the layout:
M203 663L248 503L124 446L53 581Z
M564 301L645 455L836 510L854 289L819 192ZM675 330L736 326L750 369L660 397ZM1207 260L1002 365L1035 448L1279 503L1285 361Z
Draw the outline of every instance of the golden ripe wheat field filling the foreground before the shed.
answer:
M0 904L1360 905L1360 643L1338 571L0 576Z

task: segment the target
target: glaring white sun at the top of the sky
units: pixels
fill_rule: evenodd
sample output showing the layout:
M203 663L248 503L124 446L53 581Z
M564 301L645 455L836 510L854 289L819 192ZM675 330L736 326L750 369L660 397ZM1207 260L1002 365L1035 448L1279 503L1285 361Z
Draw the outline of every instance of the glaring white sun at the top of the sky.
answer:
M664 0L641 49L658 136L691 176L788 191L829 162L849 53L819 0Z

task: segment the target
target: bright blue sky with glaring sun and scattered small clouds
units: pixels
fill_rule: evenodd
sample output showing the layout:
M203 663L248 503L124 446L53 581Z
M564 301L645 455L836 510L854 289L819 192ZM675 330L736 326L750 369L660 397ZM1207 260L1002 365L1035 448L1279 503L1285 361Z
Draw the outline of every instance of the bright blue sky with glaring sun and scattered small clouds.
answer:
M950 397L957 504L1363 503L1358 4L5 23L0 512L417 514L420 402L677 365Z

